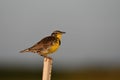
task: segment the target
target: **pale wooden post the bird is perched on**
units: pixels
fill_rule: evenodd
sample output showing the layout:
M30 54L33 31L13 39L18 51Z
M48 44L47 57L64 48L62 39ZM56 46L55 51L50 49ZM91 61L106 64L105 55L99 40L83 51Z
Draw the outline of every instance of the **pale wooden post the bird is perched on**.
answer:
M44 57L42 80L51 80L52 58Z

